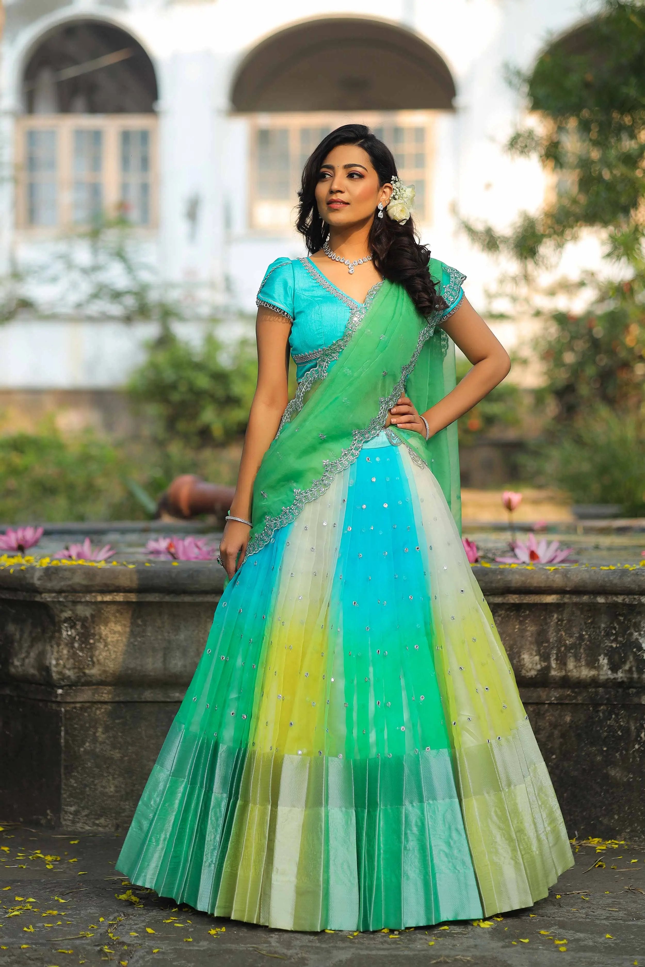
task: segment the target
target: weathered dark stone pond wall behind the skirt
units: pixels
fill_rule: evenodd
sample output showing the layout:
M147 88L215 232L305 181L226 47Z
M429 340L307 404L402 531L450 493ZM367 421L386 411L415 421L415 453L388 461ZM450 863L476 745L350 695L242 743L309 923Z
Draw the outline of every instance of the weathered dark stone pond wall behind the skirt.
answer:
M570 832L645 835L645 569L476 568ZM0 816L127 825L204 647L210 563L0 571Z

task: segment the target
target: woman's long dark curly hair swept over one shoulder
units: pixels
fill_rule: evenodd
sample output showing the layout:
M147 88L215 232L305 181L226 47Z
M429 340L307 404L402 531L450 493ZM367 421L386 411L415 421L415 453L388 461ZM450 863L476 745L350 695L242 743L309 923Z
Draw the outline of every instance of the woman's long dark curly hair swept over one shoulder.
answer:
M345 124L324 137L308 158L303 169L303 180L296 227L309 252L322 249L329 238L329 225L318 213L315 190L320 167L330 151L339 144L356 144L369 155L381 185L396 175L396 161L387 145L362 124ZM410 218L404 225L388 218L374 219L369 229L369 250L374 268L383 278L399 282L421 312L428 316L435 309L446 308L446 302L430 278L428 262L430 249L421 245Z

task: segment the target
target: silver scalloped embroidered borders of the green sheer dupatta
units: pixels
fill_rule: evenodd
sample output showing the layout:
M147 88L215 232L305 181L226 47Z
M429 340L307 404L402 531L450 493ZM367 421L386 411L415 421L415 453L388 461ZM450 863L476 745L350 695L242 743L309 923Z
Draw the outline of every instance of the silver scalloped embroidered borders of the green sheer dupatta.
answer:
M344 335L340 339L337 339L337 341L331 346L328 346L328 348L323 351L317 366L314 366L313 369L309 369L308 373L305 374L300 386L298 387L296 396L291 400L284 411L284 416L282 417L278 433L276 434L277 437L279 436L282 427L303 408L304 397L308 389L310 389L314 382L324 379L327 376L330 363L332 363L333 360L337 360L342 349L344 349L349 342L349 339L358 329L367 309L371 305L371 302L381 285L382 282L378 282L369 290L366 301L363 303L363 305L357 307L350 315ZM434 330L440 322L441 317L439 313L437 312L435 315L436 318L432 319L431 322L428 321L421 330L419 339L417 340L417 347L412 354L410 362L402 367L401 375L393 387L392 393L389 396L380 397L376 416L372 417L365 427L353 430L352 442L350 446L345 450L342 450L336 460L323 460L322 476L313 481L307 490L299 490L298 488L294 489L293 502L288 507L283 507L278 516L267 517L262 530L249 541L247 546L247 559L251 554L256 554L258 550L261 550L262 547L265 546L265 544L269 543L275 532L279 530L280 527L284 527L286 524L292 523L299 513L302 512L306 504L310 503L312 500L317 500L318 497L321 497L328 489L330 484L332 484L332 481L336 475L345 470L357 459L358 455L361 453L363 445L367 442L367 440L371 440L372 437L377 436L377 434L381 432L388 415L388 410L395 405L396 400L403 392L408 376L417 365L417 360L419 359L419 355L424 347L425 341L432 336Z

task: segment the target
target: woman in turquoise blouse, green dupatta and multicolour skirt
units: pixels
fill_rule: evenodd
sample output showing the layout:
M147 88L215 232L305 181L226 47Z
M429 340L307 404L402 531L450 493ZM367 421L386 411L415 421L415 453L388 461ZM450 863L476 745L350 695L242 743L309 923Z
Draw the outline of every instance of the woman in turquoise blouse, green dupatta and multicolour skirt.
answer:
M415 240L411 200L367 128L332 132L303 173L310 255L258 295L230 583L118 863L219 916L476 918L572 865L457 529L454 421L509 358ZM456 387L454 343L473 364Z

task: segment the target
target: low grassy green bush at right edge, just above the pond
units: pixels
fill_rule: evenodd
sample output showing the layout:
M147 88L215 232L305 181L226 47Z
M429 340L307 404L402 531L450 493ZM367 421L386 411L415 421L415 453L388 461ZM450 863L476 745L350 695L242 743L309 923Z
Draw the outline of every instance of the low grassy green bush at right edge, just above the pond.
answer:
M542 452L544 482L568 490L575 503L621 504L645 516L645 421L640 414L597 406Z

